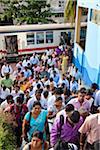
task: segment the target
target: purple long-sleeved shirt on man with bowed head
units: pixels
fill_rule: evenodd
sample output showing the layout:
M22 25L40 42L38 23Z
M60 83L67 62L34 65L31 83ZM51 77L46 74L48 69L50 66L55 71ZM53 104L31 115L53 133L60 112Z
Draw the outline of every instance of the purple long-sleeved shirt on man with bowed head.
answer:
M83 123L83 118L81 117L79 122L77 124L74 125L74 127L72 127L70 125L70 123L67 121L67 118L64 117L64 119L66 119L66 122L64 123L64 125L62 126L62 131L61 131L61 138L67 142L70 143L74 143L77 144L77 142L79 142L79 128L81 127L82 123ZM51 140L51 145L53 146L54 144L56 144L57 139L58 139L58 133L59 133L59 127L60 127L60 120L59 118L57 118L53 124L52 130L51 130L51 135L50 135L50 140Z

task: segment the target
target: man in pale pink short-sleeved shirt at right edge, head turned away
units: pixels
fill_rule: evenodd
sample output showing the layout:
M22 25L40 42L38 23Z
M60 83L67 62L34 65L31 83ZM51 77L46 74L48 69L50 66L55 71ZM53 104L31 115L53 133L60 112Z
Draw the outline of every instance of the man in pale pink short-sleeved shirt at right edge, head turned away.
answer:
M80 127L80 150L99 150L100 149L100 113L90 115ZM87 143L84 146L84 139ZM85 137L85 138L84 138Z

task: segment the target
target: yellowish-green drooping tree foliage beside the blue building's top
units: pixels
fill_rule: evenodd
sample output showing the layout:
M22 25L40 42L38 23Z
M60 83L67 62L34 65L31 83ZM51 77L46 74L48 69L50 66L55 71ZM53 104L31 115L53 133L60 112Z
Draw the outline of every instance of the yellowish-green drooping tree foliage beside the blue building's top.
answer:
M64 11L64 22L75 22L77 0L67 0Z

